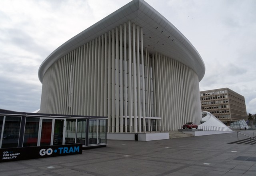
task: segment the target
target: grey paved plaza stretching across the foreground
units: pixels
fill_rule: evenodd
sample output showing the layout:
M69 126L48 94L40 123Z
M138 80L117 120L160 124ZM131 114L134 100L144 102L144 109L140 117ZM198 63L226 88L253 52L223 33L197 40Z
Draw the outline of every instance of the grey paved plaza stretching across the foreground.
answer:
M253 136L250 130L241 132ZM256 144L228 144L236 140L235 132L148 142L108 140L107 147L82 154L2 162L0 176L255 176Z

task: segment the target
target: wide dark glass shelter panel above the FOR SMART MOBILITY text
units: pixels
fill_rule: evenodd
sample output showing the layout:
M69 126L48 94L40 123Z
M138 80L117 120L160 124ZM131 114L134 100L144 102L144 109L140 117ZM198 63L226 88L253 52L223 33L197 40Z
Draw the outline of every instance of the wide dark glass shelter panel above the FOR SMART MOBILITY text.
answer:
M21 117L6 116L2 148L18 147Z

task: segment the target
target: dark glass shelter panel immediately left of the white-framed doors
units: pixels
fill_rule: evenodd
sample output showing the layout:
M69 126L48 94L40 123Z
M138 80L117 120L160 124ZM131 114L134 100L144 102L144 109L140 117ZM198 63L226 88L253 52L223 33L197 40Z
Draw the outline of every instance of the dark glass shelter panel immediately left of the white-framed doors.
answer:
M26 117L23 147L37 146L40 118Z

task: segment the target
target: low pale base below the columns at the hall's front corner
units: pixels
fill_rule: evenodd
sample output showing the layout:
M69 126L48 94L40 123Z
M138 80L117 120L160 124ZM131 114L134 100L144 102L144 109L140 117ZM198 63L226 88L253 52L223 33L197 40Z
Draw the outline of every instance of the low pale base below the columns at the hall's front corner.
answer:
M152 141L169 139L168 132L156 133L107 133L107 140Z

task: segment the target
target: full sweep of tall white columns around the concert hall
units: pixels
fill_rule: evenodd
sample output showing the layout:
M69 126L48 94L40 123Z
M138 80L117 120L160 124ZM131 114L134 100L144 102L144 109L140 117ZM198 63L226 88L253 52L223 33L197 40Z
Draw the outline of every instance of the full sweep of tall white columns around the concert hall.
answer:
M108 132L142 132L146 117L161 117L160 130L177 130L201 116L198 76L150 53L142 28L128 21L52 64L40 112L108 116Z

